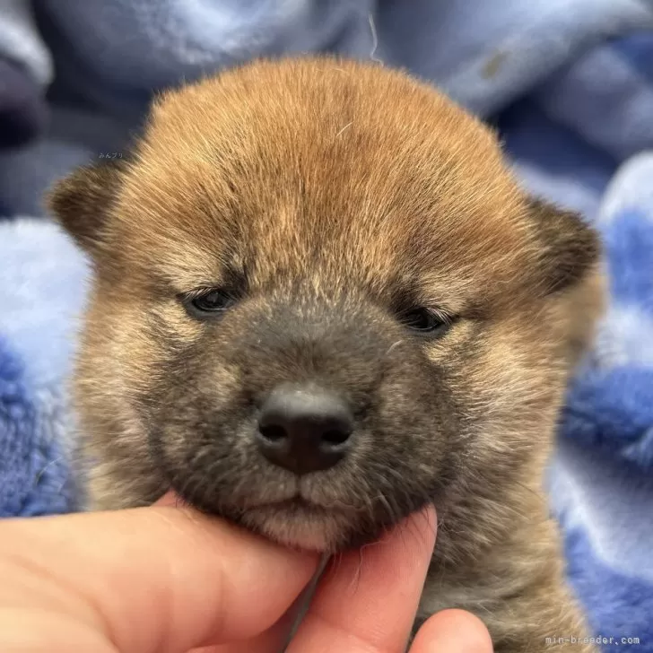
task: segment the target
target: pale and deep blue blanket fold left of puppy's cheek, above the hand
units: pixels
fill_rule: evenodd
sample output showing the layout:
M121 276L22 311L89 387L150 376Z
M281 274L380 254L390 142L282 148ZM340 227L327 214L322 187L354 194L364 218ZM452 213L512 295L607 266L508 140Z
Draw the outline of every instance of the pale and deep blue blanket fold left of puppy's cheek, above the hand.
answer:
M87 275L54 224L0 222L0 516L77 506L66 379Z

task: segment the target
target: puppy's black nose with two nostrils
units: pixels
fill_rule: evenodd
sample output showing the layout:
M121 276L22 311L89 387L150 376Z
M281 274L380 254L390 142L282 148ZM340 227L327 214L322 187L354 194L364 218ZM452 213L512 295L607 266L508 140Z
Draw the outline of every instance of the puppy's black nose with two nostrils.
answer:
M258 419L258 446L274 465L309 474L337 463L349 447L353 416L338 396L315 387L277 387Z

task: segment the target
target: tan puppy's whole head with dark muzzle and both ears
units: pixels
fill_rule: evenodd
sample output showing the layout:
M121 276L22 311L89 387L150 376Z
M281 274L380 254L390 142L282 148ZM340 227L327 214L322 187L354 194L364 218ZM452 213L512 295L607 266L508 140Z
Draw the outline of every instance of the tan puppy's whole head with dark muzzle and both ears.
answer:
M335 550L540 465L596 239L430 87L248 65L164 95L133 157L51 205L95 266L77 401L100 505L172 487Z

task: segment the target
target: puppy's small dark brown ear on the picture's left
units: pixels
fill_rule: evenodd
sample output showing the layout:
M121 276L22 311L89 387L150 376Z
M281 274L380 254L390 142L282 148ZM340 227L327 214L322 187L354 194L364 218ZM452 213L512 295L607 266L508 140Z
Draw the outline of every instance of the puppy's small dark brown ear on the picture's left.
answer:
M105 242L124 169L124 160L116 159L84 166L57 181L48 193L50 212L91 257Z

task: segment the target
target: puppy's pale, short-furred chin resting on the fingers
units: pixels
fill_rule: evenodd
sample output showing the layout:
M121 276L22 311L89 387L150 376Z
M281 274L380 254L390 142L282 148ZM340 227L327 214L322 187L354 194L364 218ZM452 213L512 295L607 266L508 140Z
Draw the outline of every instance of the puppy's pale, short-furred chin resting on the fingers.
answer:
M335 553L352 532L351 519L326 510L266 506L249 509L240 522L274 542L303 551Z

